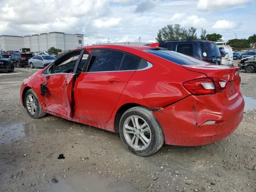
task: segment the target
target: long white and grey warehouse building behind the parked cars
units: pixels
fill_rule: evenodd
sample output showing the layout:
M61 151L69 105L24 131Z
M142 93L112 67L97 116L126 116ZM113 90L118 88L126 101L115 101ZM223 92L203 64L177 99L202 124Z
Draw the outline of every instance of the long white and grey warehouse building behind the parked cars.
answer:
M20 51L22 48L30 48L31 52L42 52L54 47L67 52L81 46L84 46L83 34L50 32L28 36L0 36L0 50L4 51Z

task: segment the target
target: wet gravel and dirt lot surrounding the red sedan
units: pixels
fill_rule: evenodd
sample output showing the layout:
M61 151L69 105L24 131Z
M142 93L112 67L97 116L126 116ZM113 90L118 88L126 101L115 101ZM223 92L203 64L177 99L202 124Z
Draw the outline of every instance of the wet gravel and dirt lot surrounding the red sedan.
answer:
M240 73L241 92L250 98L228 138L201 147L164 145L139 157L112 132L50 115L30 118L19 89L37 70L0 74L1 192L256 192L256 111L248 110L256 108L256 74Z

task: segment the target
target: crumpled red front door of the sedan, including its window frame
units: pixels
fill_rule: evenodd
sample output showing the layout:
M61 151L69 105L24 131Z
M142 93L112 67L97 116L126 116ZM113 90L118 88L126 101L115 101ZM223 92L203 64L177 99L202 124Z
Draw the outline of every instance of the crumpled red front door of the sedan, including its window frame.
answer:
M41 91L46 90L43 94L46 110L67 118L72 116L72 82L83 51L69 52L44 71Z

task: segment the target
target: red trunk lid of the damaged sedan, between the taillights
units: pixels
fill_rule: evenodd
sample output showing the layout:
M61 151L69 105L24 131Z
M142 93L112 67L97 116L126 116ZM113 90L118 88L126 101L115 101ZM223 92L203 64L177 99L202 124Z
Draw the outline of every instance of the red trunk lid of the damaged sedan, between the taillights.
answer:
M221 66L212 64L183 65L184 68L206 74L209 78L222 78L227 81L226 88L218 94L224 105L234 102L239 94L240 77L239 68L233 66Z

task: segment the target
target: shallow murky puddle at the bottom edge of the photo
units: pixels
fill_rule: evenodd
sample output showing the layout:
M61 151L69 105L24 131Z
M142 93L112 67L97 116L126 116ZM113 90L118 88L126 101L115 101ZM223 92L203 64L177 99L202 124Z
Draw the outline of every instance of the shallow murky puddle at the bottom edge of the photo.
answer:
M116 180L113 176L88 173L67 173L66 178L58 179L45 191L50 192L131 192L137 191L128 182Z

